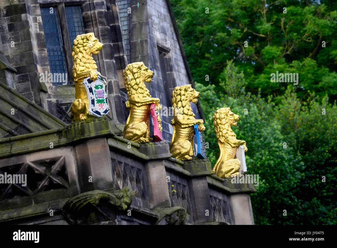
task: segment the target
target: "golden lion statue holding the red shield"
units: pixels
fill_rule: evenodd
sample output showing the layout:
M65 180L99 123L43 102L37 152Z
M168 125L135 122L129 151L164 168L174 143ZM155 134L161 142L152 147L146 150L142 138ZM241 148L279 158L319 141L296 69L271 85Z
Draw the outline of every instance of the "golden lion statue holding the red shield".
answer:
M152 98L144 81L151 83L153 72L143 62L128 64L124 71L125 88L129 101L125 103L130 110L126 120L123 137L136 143L150 140L149 118L151 104L156 104L155 111L160 110L158 98ZM160 115L157 115L158 129L162 131Z

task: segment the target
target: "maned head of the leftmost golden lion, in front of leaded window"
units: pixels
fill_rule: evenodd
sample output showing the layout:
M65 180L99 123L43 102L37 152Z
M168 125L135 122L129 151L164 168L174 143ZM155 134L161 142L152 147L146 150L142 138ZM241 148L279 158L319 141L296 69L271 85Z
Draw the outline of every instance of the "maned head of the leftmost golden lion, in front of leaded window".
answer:
M78 74L96 70L96 62L91 54L97 55L103 49L103 44L98 41L94 33L80 34L74 39L71 56L73 58L72 73L74 80L77 81ZM83 77L83 76L82 76Z

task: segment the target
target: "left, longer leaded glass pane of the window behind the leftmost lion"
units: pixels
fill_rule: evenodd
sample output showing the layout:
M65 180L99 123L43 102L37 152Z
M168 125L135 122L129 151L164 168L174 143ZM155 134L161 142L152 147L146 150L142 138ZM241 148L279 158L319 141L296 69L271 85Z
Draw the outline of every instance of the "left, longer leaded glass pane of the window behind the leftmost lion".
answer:
M43 33L45 45L47 46L50 73L67 73L65 58L63 52L63 44L61 37L61 29L57 17L57 9L53 8L51 13L50 7L41 8L41 18L43 25ZM46 77L48 75L45 75ZM67 77L65 77L67 78ZM56 82L53 78L53 85L62 85L62 82Z

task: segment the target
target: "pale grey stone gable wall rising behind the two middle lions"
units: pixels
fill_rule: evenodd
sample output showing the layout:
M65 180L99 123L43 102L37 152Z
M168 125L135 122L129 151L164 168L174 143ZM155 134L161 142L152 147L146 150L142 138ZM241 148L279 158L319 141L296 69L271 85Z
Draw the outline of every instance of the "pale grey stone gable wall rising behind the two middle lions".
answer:
M148 11L148 51L149 68L154 71L154 77L149 86L152 97L157 97L165 107L172 107L171 93L175 86L189 84L186 68L183 64L182 54L178 45L177 35L168 13L165 0L147 0ZM167 63L172 68L173 83L176 85L163 85L161 74L158 45L168 50ZM168 68L166 68L168 69ZM170 71L170 70L167 70ZM166 92L169 91L169 92ZM167 94L168 93L168 94ZM196 118L200 118L194 104L191 103ZM163 139L171 141L173 116L162 116Z

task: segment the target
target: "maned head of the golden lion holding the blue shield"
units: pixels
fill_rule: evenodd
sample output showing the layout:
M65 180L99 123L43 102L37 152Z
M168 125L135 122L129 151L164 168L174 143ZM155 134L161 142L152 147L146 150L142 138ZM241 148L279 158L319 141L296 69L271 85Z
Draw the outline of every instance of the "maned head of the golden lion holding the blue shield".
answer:
M199 97L200 93L193 89L190 84L175 87L172 92L174 115L177 115L176 111L178 111L179 114L194 118L195 115L191 109L190 102L197 103Z

